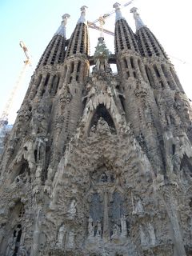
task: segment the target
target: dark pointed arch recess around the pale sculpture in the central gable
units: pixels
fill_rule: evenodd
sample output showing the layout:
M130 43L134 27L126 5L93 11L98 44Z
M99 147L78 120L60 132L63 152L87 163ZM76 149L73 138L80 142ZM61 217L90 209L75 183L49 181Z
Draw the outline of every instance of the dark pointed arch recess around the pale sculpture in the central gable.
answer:
M97 126L98 125L98 120L100 118L103 118L107 122L107 124L110 128L111 134L117 134L115 126L114 126L114 121L111 118L110 113L108 112L108 110L106 110L106 106L104 106L103 104L98 105L98 107L97 107L97 109L94 113L94 116L91 119L90 128L92 126Z

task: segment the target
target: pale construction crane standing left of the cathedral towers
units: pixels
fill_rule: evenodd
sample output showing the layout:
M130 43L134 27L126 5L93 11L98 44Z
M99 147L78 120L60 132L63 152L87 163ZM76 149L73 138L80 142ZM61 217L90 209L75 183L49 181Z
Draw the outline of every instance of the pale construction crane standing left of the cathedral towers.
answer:
M11 106L14 102L14 96L17 93L19 87L22 85L22 78L24 78L24 74L26 73L26 68L30 65L30 56L28 54L28 50L24 42L20 41L19 46L21 46L24 54L26 55L26 59L24 60L24 66L22 67L22 70L18 76L18 79L15 83L14 88L10 92L10 97L8 98L8 101L6 102L6 106L4 110L2 111L2 114L0 116L0 130L2 130L3 126L6 126L8 124L8 116L10 114Z

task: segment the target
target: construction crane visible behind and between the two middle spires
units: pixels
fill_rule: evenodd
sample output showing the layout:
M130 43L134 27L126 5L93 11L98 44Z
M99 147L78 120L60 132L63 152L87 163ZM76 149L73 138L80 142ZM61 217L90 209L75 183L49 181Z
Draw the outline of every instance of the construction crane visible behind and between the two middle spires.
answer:
M122 8L126 7L126 6L129 6L132 2L134 2L134 0L126 2L124 5L122 5ZM114 32L112 32L110 30L106 30L106 29L103 28L103 26L105 25L106 18L109 18L110 15L114 14L114 13L115 13L115 10L111 10L109 13L104 14L104 15L100 16L99 18L97 18L94 22L87 22L87 24L91 29L99 30L100 31L100 37L103 37L103 33L110 34L110 35L114 36ZM99 22L99 26L97 26L95 24L97 22Z

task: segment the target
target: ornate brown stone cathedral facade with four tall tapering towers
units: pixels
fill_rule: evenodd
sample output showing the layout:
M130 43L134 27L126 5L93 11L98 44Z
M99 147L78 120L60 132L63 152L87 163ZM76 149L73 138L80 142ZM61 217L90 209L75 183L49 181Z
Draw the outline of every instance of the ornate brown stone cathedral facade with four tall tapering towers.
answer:
M137 9L134 34L114 8L115 54L101 37L90 56L83 6L38 62L1 157L1 256L192 255L190 102Z

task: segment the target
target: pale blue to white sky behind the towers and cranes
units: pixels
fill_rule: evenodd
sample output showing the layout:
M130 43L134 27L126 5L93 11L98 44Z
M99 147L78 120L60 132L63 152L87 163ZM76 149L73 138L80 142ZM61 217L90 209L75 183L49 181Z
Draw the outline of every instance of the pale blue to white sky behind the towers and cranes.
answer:
M129 0L128 0L129 1ZM119 0L124 4L128 1ZM15 103L10 113L10 122L14 122L16 111L21 106L22 99L30 82L30 75L45 50L54 32L58 29L62 14L68 13L71 18L67 25L67 37L74 30L74 26L80 15L80 7L88 6L87 19L94 21L100 14L106 14L113 10L115 1L111 0L1 0L0 1L0 26L1 26L1 47L0 47L0 70L1 70L1 101L0 113L6 104L10 90L17 81L22 69L25 55L19 46L23 40L33 57L33 66L26 74ZM162 43L167 54L175 65L182 86L189 98L192 98L190 73L192 70L192 39L190 26L192 15L190 14L191 3L189 0L135 0L131 6L137 6L142 20L152 30L158 40ZM122 10L127 22L134 30L134 21L130 14L130 7ZM114 15L106 22L106 29L114 30ZM97 44L99 32L90 30L91 52ZM114 38L105 36L106 46L114 52ZM178 59L186 63L183 64Z

